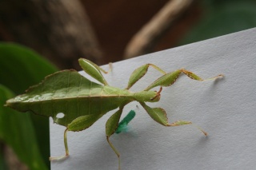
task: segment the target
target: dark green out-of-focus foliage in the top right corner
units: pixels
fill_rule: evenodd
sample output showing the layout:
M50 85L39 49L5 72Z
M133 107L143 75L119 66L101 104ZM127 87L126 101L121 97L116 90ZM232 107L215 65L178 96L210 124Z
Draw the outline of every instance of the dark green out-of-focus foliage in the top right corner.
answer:
M256 26L256 2L208 0L202 2L203 17L182 39L189 44Z

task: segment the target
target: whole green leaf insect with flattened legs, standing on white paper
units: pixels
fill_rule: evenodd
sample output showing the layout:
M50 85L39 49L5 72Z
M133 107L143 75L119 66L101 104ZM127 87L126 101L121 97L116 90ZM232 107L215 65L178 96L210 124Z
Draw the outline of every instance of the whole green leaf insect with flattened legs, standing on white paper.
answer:
M120 169L120 154L110 142L110 136L118 128L118 122L122 114L122 109L131 101L138 101L146 110L146 113L154 121L164 126L190 125L190 121L176 121L169 123L166 111L162 108L150 108L146 102L157 102L160 100L162 87L173 85L178 76L184 73L186 76L196 81L204 81L196 74L186 69L178 69L171 73L166 73L156 65L146 64L135 69L131 74L126 89L119 89L108 85L102 73L106 73L92 61L80 58L79 64L82 69L94 77L100 84L82 77L76 70L62 70L47 76L41 83L30 87L25 94L14 97L6 101L6 106L20 112L30 111L46 117L52 117L54 123L66 126L64 132L64 144L66 148L65 156L50 157L50 160L60 160L69 156L66 132L82 131L89 128L110 110L118 109L106 122L106 140L110 147L118 156L118 168ZM153 67L163 75L140 92L131 92L129 89L146 73L149 67ZM210 78L214 80L218 77ZM206 79L209 80L209 79ZM160 87L153 91L154 87ZM64 117L58 117L58 113L63 113ZM203 132L203 131L202 131ZM204 132L206 135L206 132Z

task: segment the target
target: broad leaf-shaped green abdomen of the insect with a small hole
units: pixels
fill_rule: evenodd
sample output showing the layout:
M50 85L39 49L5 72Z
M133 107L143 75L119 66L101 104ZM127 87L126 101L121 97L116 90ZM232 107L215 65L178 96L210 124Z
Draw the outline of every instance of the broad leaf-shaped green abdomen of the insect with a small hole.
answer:
M53 117L56 123L66 126L77 117L105 114L118 108L131 100L128 94L122 89L98 85L76 71L65 70L46 77L26 94L7 101L6 105L21 112ZM58 118L58 113L65 116Z

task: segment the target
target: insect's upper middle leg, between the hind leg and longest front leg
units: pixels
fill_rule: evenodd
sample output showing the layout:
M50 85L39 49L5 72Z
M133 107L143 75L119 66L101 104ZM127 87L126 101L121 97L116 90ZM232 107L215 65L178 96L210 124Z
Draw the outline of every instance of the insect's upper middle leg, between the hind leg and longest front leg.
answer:
M135 69L134 72L130 75L130 79L128 81L128 85L127 85L126 89L130 89L131 86L133 86L139 79L141 79L146 74L147 69L150 66L152 66L154 69L157 69L159 72L166 74L165 71L163 71L156 65L153 65L153 64L142 65L138 69Z

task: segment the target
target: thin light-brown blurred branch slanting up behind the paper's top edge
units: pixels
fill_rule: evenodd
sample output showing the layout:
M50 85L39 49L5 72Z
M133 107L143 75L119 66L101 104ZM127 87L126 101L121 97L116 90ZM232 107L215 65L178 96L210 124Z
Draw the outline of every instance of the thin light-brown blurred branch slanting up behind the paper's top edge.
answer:
M158 39L166 33L174 21L181 16L194 0L171 0L130 40L124 58L136 57L153 49Z

